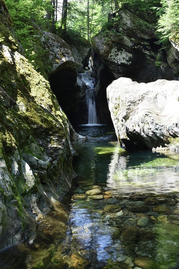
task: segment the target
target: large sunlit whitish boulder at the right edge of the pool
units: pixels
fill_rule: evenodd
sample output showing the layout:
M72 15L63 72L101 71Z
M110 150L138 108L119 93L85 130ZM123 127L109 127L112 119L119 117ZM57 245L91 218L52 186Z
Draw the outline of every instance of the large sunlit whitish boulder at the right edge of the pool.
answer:
M138 142L149 149L167 146L172 137L179 136L178 97L178 81L113 81L107 99L118 140Z

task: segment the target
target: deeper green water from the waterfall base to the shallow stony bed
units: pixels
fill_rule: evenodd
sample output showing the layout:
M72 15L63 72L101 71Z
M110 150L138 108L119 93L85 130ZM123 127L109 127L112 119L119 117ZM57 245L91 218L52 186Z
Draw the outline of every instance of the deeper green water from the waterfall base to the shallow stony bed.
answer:
M118 193L165 193L179 190L179 155L151 151L126 152L108 126L79 126L88 137L72 144L79 153L73 167L91 184L104 184ZM109 135L108 135L109 134Z

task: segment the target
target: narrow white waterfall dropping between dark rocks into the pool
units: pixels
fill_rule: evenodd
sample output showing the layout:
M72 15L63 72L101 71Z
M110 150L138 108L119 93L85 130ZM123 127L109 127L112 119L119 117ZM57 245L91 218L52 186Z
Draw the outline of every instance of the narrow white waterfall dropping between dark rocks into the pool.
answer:
M95 104L95 81L91 77L91 70L84 74L79 74L80 79L87 85L86 98L88 106L88 124L98 124Z

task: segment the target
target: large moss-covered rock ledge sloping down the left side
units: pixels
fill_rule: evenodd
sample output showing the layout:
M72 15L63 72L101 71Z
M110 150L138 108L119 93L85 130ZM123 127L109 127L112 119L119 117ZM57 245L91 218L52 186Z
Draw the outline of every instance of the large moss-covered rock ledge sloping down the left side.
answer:
M73 178L70 129L42 77L21 54L0 0L0 248L36 229ZM4 37L4 38L3 38Z

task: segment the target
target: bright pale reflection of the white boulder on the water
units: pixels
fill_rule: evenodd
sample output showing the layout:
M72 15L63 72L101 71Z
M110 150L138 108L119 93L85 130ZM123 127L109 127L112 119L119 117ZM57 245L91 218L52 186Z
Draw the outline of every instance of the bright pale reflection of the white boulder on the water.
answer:
M107 187L123 193L178 191L178 165L178 160L152 152L115 152L109 164Z

